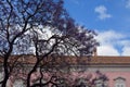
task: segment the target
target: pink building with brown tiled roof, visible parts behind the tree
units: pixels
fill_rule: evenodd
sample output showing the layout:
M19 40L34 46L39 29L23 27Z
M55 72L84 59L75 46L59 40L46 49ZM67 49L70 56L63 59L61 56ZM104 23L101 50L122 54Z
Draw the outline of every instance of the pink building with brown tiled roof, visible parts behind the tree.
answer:
M31 66L31 64L34 64L36 61L34 58L35 58L34 55L21 55L21 59L18 61L23 61L25 67L26 65ZM13 59L15 59L15 57L13 57ZM57 60L60 64L61 60L58 58ZM2 61L0 62L2 63ZM76 77L86 78L88 77L88 75L94 78L96 77L95 72L100 71L107 76L108 87L130 87L130 57L99 57L96 54L91 59L65 57L65 60L63 63L64 65L62 66L62 70L64 71L69 70L69 73L72 73L70 76L73 78L76 78ZM21 65L18 66L18 71L20 71L20 67ZM26 71L27 69L24 69L24 70ZM2 77L2 73L0 74L0 76ZM17 76L24 77L23 75L21 75L21 73L20 75L17 74ZM38 76L38 73L35 73L32 77L35 78L36 76ZM12 87L18 87L20 84L23 84L23 83L18 83L17 85L17 83L18 83L17 80L14 82L15 86L13 85ZM9 87L11 87L11 85L9 85ZM102 87L102 86L100 86L99 84L96 85L96 87Z

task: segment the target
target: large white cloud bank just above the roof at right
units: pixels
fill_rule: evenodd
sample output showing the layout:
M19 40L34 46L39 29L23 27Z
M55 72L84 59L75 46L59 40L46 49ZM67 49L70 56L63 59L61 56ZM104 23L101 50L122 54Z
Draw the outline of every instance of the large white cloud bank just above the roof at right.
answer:
M99 55L130 55L130 39L127 35L106 30L99 33L96 39L101 44L98 47Z

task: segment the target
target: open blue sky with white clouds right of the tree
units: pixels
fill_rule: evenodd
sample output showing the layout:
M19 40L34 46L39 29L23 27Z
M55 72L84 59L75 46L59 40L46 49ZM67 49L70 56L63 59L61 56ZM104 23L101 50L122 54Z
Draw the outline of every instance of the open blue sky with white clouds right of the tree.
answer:
M130 0L64 0L70 16L98 32L99 55L130 55Z

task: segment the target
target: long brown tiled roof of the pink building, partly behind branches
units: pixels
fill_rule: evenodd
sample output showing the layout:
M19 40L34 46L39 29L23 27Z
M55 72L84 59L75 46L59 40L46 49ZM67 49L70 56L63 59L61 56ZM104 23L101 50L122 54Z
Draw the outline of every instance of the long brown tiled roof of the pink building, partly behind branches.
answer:
M17 59L21 58L21 59ZM18 62L26 64L34 64L36 62L35 55L12 55L9 62L14 62L18 60ZM47 59L46 59L47 60ZM56 60L56 61L55 61ZM76 58L76 57L63 57L56 58L55 60L47 60L47 61L55 61L58 63L66 64L130 64L130 57L92 57L92 58ZM2 59L0 59L2 63Z

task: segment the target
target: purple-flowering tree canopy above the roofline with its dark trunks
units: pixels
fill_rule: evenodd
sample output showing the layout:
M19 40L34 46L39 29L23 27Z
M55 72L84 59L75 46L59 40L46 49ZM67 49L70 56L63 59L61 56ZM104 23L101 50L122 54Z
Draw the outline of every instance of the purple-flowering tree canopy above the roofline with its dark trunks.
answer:
M64 9L63 0L1 0L0 8L2 87L6 86L16 63L10 65L12 54L35 52L37 62L28 73L29 87L31 73L48 55L91 57L98 46L96 34L77 25Z

